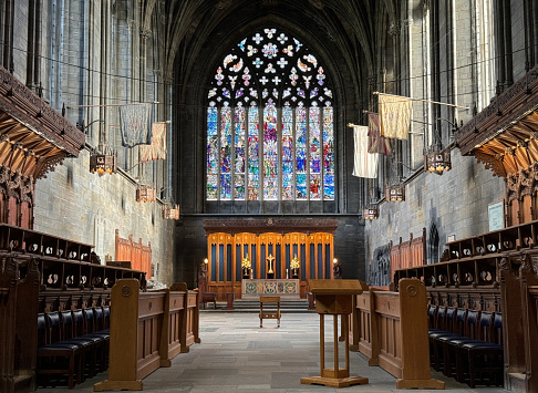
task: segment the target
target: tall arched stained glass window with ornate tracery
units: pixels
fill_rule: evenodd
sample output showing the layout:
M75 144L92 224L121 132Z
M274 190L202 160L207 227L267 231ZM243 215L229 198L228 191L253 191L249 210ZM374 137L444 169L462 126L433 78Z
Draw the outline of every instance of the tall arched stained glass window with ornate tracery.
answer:
M300 40L254 32L210 84L207 200L334 200L332 91Z

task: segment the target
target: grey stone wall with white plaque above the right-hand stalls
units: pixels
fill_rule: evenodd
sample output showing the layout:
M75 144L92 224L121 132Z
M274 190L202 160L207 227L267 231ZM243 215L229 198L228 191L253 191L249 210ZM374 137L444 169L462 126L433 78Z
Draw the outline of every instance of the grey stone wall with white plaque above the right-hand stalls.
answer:
M426 228L428 262L432 251L438 247L439 257L454 235L463 239L488 231L488 205L505 196L504 179L478 164L474 157L463 157L458 149L452 151L453 168L443 175L418 173L405 186L405 201L383 201L379 206L380 217L365 225L365 251L369 277L377 271L374 252L390 241L394 245L422 236ZM432 245L433 228L438 234L438 244ZM438 261L438 260L437 260Z

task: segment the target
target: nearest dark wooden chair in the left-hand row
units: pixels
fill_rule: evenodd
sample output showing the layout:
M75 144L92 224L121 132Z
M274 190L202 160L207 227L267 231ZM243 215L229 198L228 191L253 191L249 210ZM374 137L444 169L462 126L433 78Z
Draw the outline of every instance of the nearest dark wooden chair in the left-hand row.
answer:
M58 317L58 314L56 314ZM84 351L81 344L60 341L60 318L38 316L38 365L37 374L68 375L68 387L73 389L83 379ZM38 381L39 383L39 381Z

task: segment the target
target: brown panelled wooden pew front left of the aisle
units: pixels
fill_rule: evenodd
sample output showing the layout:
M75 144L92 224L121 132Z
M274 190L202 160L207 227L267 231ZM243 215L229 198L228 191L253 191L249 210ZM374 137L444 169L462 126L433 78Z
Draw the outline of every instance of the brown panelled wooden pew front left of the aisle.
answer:
M179 352L187 352L198 335L198 293L185 283L170 289L139 292L134 279L112 288L108 379L94 391L142 390L142 380L169 366Z

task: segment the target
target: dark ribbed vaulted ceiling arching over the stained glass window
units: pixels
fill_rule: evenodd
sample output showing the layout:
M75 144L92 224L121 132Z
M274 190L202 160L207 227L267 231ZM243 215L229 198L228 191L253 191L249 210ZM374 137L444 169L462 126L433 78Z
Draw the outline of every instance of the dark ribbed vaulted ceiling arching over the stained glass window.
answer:
M375 75L382 39L376 31L401 19L394 0L148 0L144 7L147 15L155 8L164 15L165 73L185 91L199 85L245 34L275 25L314 49L324 64L335 64L328 74L360 97L360 81Z

